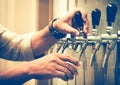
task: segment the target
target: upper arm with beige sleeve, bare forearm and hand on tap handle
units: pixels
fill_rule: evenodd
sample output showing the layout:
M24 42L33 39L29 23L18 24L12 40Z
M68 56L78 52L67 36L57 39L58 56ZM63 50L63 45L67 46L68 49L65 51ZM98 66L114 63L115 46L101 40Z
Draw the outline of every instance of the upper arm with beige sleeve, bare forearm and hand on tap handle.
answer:
M77 11L81 11L83 14L84 31L87 32L89 23L86 12L82 9L76 9L55 21L53 27L61 33L71 33L78 36L79 32L72 27L72 18ZM50 24L34 34L24 35L17 35L14 32L5 30L0 25L0 29L2 29L0 30L0 57L8 60L32 60L34 57L43 54L58 40L50 36Z

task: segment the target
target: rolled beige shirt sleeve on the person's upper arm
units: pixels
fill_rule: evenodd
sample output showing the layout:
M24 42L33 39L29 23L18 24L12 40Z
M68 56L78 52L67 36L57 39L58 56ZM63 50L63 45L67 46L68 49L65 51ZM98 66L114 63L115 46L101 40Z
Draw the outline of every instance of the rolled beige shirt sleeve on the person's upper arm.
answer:
M14 61L33 60L32 35L33 33L18 35L0 25L0 58Z

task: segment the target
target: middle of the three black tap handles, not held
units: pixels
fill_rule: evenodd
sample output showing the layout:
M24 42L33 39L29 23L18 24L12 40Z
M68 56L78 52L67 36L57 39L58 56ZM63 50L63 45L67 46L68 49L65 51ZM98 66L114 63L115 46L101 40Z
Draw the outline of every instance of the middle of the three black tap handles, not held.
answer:
M91 13L93 29L96 29L96 25L99 25L101 11L99 9L94 9Z

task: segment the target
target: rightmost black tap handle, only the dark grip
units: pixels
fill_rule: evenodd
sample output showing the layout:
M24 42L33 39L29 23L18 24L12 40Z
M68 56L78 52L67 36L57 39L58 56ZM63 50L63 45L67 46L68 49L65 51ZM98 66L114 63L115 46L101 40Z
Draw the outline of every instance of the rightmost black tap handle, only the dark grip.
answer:
M112 23L115 21L115 17L117 14L117 6L115 4L108 4L106 8L106 14L107 14L107 23L108 26L112 26Z

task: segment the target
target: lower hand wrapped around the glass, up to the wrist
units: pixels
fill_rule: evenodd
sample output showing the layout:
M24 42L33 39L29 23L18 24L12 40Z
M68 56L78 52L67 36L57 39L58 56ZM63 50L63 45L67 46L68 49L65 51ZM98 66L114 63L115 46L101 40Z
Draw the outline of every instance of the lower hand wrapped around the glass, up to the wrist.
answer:
M78 66L79 61L75 58L55 53L29 62L29 74L35 79L58 77L67 81L78 74Z

